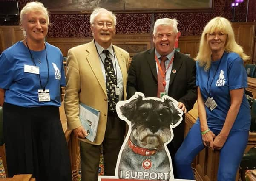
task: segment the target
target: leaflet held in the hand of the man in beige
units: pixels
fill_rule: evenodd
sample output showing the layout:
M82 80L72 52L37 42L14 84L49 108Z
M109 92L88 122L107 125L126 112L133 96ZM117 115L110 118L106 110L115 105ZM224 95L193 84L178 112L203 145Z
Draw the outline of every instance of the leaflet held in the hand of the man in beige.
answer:
M91 142L95 142L100 111L83 103L79 103L79 117L83 128L88 134L86 138Z

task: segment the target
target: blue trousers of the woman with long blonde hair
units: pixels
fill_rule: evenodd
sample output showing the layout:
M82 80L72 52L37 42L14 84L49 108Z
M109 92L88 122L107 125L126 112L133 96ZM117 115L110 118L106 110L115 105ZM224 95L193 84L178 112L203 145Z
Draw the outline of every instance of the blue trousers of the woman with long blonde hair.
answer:
M211 129L217 136L220 131ZM236 171L247 145L248 131L230 131L226 142L220 150L218 181L235 181ZM194 179L191 162L204 149L200 125L194 124L181 147L175 154L174 162L178 178Z

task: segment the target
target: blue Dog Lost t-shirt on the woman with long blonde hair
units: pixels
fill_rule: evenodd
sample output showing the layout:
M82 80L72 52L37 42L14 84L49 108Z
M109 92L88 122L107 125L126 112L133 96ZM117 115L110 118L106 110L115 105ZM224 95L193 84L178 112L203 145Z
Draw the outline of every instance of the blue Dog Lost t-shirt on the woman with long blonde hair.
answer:
M205 106L207 124L209 128L221 130L230 108L230 90L247 87L247 73L242 58L236 53L224 52L220 60L211 62L207 71L196 62L196 85L200 87L204 102L208 97L213 97L217 103L213 111ZM231 130L249 130L250 119L250 106L244 95ZM196 124L200 124L199 117Z

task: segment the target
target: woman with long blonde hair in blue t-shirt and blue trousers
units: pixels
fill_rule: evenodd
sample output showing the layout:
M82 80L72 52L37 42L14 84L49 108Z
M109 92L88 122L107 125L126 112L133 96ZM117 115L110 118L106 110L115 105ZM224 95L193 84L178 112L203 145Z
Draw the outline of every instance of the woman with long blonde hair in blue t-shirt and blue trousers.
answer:
M194 179L191 162L208 147L220 152L218 181L235 180L250 128L244 95L244 61L249 58L227 19L215 17L207 23L196 57L199 117L175 155L179 178Z

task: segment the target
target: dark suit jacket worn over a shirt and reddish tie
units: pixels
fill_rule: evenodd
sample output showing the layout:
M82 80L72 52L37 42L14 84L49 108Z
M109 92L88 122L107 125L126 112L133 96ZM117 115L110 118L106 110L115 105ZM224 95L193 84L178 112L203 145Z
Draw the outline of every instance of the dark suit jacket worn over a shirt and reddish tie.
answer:
M195 61L175 51L172 70L174 69L176 73L170 75L168 95L178 102L184 103L187 111L189 111L197 99ZM154 48L137 53L132 58L127 79L127 98L130 98L135 92L142 92L145 97L157 96ZM172 142L175 147L179 147L183 141L184 121L178 127L173 130L175 139Z

